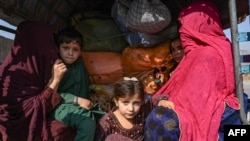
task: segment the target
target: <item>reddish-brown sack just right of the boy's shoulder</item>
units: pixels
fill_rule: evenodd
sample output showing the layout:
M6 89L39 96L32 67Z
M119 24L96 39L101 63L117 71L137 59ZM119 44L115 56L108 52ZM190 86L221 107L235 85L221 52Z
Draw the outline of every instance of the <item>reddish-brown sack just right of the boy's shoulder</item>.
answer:
M109 85L123 77L121 54L116 52L82 52L91 84Z

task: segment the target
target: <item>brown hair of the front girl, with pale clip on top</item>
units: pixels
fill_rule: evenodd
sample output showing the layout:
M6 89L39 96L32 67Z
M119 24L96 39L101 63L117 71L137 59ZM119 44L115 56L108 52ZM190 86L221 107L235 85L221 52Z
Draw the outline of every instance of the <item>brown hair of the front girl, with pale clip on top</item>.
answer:
M142 100L144 99L144 89L141 81L135 77L123 77L114 84L112 99L118 100L134 94L138 94Z

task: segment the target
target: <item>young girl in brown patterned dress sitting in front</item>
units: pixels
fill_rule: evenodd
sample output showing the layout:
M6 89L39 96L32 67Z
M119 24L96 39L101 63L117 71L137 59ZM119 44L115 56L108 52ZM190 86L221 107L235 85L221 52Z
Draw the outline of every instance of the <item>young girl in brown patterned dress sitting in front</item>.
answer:
M143 140L144 91L141 82L124 77L114 84L113 109L97 125L95 141Z

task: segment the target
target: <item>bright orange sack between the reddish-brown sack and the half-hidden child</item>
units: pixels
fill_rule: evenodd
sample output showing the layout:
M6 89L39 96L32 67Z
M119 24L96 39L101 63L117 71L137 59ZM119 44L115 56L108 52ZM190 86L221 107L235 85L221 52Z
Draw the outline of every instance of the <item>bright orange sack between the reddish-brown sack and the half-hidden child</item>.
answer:
M122 52L124 75L139 78L144 92L154 94L167 82L175 64L169 49L169 41L152 48L125 48ZM161 74L161 81L156 80L156 74Z

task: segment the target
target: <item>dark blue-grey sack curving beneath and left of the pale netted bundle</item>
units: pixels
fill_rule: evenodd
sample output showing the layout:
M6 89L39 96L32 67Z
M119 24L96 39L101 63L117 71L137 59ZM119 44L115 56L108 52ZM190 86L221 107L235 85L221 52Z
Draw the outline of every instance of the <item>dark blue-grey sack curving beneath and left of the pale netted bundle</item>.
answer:
M124 38L130 47L153 47L178 34L178 24L175 21L161 30L154 30L155 34L130 31L127 25L127 17L129 17L127 13L131 5L132 1L130 0L116 0L111 9L111 16L124 33Z

